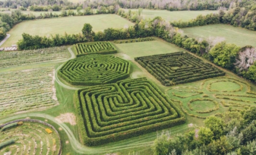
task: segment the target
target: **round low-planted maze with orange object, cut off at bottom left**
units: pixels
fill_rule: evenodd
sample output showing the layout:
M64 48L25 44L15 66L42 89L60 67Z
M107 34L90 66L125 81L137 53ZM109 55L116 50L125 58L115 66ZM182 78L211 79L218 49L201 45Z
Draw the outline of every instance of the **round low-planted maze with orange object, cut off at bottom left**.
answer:
M0 128L0 154L59 155L59 134L48 123L18 120Z

